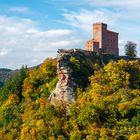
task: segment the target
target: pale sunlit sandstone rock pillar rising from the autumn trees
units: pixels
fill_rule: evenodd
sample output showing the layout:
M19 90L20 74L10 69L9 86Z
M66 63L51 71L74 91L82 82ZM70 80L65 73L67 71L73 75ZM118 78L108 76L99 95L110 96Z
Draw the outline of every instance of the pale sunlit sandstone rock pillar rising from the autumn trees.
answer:
M58 101L71 103L75 101L74 87L76 83L72 78L72 69L68 64L70 57L69 52L58 51L57 73L59 81L49 97L51 103L57 103Z

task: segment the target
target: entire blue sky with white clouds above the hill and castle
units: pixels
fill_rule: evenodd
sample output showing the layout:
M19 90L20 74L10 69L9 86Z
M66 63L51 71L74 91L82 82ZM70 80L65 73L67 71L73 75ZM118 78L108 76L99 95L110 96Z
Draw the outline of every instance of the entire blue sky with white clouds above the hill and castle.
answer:
M0 68L19 69L56 57L58 49L85 48L92 25L119 33L140 57L140 0L0 0Z

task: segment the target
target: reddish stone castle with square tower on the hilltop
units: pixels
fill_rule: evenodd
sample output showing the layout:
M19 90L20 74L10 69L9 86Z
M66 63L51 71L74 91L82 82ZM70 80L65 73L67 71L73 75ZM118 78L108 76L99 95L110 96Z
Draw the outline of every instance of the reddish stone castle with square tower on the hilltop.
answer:
M107 24L93 24L93 37L87 41L86 50L119 55L118 33L107 30Z

